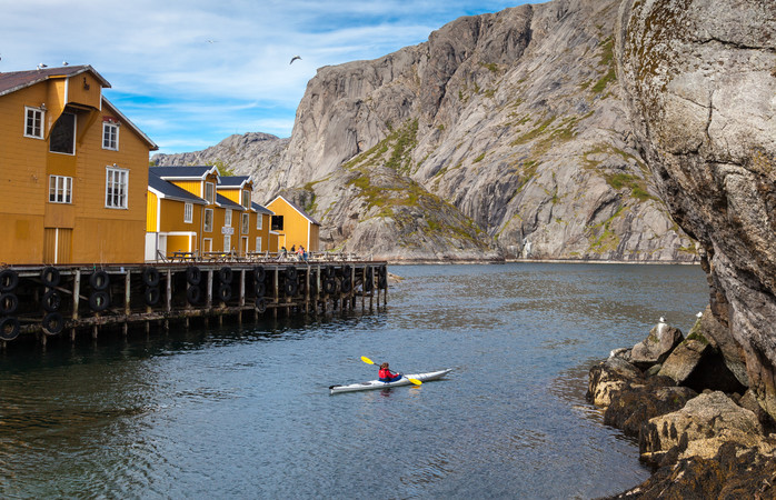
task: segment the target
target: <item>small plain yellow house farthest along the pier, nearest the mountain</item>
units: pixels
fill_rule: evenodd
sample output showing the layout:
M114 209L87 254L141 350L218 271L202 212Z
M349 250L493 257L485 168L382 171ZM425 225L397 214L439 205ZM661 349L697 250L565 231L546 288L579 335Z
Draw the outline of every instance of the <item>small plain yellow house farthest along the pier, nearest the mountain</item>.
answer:
M320 250L320 224L301 207L278 196L267 208L273 213L270 229L277 233L278 247L290 250L301 244L308 252Z

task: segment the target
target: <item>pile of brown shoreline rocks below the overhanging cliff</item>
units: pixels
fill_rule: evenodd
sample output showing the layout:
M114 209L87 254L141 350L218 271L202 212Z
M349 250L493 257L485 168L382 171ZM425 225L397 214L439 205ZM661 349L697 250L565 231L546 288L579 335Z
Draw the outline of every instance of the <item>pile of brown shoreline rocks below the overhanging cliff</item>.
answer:
M654 469L613 498L776 498L774 420L702 324L685 338L661 319L644 341L590 368L588 400L605 409L604 423L638 438Z

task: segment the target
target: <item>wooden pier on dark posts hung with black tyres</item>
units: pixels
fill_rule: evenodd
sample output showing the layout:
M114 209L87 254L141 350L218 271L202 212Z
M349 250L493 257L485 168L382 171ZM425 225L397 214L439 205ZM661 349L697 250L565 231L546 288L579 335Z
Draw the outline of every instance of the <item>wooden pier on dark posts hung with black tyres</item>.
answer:
M192 318L326 314L388 303L386 262L193 262L0 268L0 347L17 338Z

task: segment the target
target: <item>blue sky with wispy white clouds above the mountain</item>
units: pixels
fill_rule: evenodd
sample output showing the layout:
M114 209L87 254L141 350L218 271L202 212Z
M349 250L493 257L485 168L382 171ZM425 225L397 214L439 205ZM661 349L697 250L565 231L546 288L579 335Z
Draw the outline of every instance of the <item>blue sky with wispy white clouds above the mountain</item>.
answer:
M428 40L525 0L0 0L0 72L91 64L158 146L290 137L316 70ZM289 63L291 58L301 59Z

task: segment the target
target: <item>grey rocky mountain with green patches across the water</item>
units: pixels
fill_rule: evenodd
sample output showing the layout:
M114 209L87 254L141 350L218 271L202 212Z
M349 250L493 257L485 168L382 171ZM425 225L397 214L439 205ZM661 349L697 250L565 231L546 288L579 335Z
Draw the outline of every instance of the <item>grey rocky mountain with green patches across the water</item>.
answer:
M232 136L161 166L223 162L282 192L321 240L390 260L695 261L635 149L616 0L465 17L427 42L325 67L290 139Z

